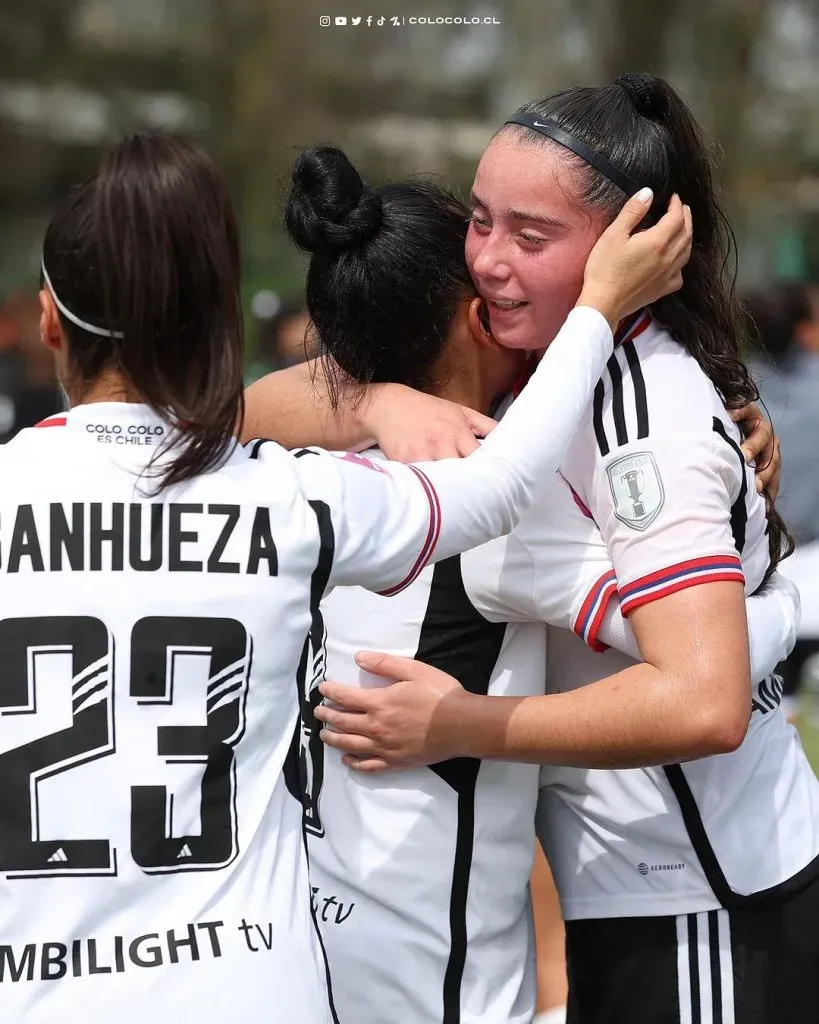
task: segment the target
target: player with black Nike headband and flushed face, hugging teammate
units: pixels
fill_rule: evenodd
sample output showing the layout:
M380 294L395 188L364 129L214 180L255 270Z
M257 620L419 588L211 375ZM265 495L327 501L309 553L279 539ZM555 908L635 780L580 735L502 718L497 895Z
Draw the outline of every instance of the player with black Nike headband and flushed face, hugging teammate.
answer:
M645 664L617 672L616 654L553 644L551 685L570 692L485 700L387 660L413 685L330 685L356 714L316 714L348 730L327 741L364 771L457 756L567 766L546 773L542 833L568 919L574 1020L803 1021L819 1013L819 784L777 685L747 672L743 587L763 585L784 535L723 408L753 388L690 112L650 76L517 112L478 168L467 257L497 339L543 347L638 183L660 208L669 190L691 206L691 264L677 296L623 326L561 471L606 540Z

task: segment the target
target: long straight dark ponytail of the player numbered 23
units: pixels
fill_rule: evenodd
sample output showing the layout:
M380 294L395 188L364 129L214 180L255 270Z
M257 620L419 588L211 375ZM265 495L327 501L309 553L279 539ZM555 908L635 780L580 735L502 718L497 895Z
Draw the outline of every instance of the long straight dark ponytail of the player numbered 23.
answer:
M115 372L172 427L158 487L219 466L244 414L239 230L227 184L197 146L138 134L116 145L45 232L80 394Z

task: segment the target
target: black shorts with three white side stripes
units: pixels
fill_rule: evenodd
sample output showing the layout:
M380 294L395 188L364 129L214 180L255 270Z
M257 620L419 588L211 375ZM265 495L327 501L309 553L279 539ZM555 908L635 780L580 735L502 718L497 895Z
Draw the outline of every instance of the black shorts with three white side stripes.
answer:
M570 921L568 1024L817 1024L819 880L755 909Z

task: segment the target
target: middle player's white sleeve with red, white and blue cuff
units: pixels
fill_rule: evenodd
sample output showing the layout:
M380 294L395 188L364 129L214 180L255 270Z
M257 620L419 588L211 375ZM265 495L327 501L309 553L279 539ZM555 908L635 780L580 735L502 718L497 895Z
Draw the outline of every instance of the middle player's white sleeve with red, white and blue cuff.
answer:
M616 580L591 512L559 474L515 531L461 560L470 600L491 622L573 630L594 650Z

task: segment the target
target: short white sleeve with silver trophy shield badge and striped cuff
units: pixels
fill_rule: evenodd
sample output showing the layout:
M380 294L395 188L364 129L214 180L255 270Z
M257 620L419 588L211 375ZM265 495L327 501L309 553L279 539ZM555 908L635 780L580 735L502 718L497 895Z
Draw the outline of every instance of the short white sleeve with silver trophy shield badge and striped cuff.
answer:
M741 455L713 436L645 437L596 457L584 495L611 555L620 608L713 581L744 584Z

